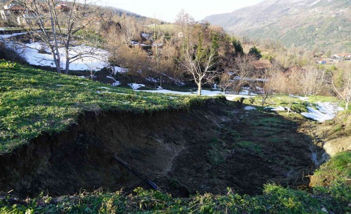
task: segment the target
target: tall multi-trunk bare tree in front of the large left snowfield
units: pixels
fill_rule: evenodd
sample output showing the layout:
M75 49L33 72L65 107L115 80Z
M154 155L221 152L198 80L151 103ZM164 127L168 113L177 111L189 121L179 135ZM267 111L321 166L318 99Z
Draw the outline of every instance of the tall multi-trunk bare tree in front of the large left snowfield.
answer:
M31 18L25 19L24 29L34 38L39 38L50 49L58 73L61 73L61 50L66 58L64 71L66 74L72 62L94 55L94 48L75 55L70 53L74 35L96 22L97 9L92 12L87 0L72 0L69 5L60 0L19 0L19 2L31 13Z

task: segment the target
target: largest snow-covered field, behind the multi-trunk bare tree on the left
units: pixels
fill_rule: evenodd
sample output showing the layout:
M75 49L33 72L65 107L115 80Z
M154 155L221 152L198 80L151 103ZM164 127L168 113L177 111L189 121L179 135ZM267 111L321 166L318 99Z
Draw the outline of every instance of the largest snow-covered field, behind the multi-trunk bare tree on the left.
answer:
M0 35L0 39L8 39L13 36L23 35L26 33L14 33ZM55 68L53 57L50 49L39 42L31 42L28 44L18 44L13 41L7 41L6 46L16 51L22 56L30 65L34 66L48 66ZM40 53L39 53L40 52ZM60 48L61 68L66 66L65 49ZM108 66L107 58L108 52L102 49L96 49L89 46L73 46L69 48L70 57L80 56L75 58L70 64L70 70L73 71L99 71Z

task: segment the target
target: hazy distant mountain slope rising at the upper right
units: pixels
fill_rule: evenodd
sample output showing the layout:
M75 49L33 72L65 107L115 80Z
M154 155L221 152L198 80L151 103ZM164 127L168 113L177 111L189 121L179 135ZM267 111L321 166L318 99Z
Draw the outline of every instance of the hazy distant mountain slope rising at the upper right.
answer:
M285 46L351 52L351 0L264 0L204 20L251 39Z

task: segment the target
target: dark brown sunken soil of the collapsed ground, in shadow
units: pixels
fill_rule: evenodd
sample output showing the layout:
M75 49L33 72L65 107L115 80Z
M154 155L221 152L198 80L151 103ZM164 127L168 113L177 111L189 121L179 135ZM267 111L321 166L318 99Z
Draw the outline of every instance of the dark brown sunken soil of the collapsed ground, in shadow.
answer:
M0 155L0 192L129 191L148 188L146 180L178 196L227 187L259 194L269 181L307 185L312 141L298 126L233 102L153 114L87 112L67 132Z

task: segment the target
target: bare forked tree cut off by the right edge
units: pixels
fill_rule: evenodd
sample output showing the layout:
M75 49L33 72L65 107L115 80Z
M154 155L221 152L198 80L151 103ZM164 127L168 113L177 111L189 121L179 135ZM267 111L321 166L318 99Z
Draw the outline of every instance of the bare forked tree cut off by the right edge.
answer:
M345 70L343 71L342 86L340 88L337 88L334 84L333 77L331 79L334 90L345 101L346 109L349 109L349 104L351 101L351 68L345 68Z

